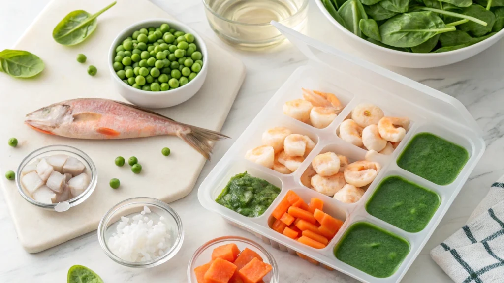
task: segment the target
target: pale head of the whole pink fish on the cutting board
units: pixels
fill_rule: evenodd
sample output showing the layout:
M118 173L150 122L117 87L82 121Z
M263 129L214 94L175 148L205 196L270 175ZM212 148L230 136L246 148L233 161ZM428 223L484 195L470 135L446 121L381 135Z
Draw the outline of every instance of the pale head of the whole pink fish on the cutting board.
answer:
M53 104L27 114L25 124L36 130L51 133L52 130L64 123L67 117L72 117L69 105Z

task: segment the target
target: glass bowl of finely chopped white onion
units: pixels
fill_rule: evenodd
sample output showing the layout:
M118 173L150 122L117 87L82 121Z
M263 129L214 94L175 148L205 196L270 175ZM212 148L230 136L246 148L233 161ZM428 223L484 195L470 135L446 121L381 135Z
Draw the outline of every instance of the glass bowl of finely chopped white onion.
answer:
M182 221L175 210L150 197L117 203L98 226L98 240L108 257L136 268L165 263L180 250L183 238Z

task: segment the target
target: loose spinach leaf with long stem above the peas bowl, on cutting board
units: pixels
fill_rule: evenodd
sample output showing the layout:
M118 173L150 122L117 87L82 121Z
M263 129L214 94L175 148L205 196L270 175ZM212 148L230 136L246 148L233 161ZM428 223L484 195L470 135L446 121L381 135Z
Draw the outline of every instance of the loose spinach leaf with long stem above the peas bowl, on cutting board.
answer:
M96 18L115 5L114 2L98 13L91 15L86 11L70 12L52 30L52 38L63 45L75 45L83 42L96 29Z

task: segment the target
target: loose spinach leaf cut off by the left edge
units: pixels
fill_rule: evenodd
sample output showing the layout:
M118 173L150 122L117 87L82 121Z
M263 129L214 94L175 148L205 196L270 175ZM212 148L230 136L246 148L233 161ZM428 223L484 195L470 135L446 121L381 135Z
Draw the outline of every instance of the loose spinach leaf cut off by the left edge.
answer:
M35 54L23 50L0 52L0 72L16 78L30 78L42 72L44 62Z

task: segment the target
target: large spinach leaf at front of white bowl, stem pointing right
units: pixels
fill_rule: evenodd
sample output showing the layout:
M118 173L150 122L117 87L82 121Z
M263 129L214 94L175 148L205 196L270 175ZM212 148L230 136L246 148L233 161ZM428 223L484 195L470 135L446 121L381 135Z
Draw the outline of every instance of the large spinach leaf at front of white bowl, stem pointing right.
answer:
M431 37L456 30L447 27L443 20L432 12L413 12L397 15L380 27L382 42L395 47L413 47Z

